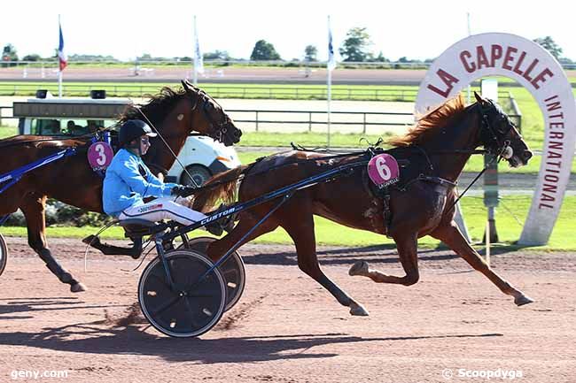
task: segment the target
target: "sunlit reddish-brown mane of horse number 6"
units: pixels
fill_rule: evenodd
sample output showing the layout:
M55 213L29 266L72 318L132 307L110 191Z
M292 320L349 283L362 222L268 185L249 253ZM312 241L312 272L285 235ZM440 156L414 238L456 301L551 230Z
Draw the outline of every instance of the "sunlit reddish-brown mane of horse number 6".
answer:
M465 111L465 103L462 95L450 98L440 104L436 109L418 117L414 126L409 127L407 134L393 137L388 143L393 147L404 147L412 144L426 142L441 128L460 119Z

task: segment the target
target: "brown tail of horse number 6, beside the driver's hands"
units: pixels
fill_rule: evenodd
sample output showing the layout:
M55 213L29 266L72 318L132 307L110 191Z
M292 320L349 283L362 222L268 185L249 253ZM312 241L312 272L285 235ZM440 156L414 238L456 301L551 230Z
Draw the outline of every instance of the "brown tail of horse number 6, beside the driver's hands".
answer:
M250 165L238 166L226 172L216 174L194 194L192 209L195 211L212 211L217 203L235 203L238 178Z

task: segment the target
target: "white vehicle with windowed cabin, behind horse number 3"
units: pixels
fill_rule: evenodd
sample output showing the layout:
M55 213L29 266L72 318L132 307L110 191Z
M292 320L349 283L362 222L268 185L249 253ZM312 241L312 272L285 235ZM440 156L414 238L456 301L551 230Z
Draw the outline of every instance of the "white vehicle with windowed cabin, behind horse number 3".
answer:
M130 101L126 98L31 98L13 103L13 115L19 118L19 134L81 135L99 127L117 123L115 119ZM236 150L210 137L191 135L178 159L168 170L167 181L202 185L212 175L240 165Z

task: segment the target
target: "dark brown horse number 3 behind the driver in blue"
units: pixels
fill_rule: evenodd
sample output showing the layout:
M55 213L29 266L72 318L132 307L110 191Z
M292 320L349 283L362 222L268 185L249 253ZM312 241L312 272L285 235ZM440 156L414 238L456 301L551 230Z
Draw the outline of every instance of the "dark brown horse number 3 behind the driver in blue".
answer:
M158 129L152 149L144 161L152 169L169 169L175 157L161 142L166 140L176 155L192 132L206 134L226 145L239 141L242 132L210 96L190 83L182 81L183 89L162 88L149 103L130 106L120 122L128 119L148 120ZM144 117L145 116L145 117ZM64 148L77 148L77 153L28 172L12 188L2 194L0 217L20 209L27 222L28 244L43 259L60 281L73 292L86 287L58 264L46 244L44 208L48 197L88 211L102 211L102 178L90 169L86 159L90 137L62 139L19 135L0 141L2 162L0 174L47 157Z

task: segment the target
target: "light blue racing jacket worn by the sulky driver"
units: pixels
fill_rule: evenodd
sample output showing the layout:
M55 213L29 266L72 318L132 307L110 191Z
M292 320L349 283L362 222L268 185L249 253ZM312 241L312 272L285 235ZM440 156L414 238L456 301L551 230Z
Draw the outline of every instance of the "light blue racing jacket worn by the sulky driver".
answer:
M120 149L106 169L102 202L104 211L118 217L124 209L144 204L144 197L165 197L170 195L175 183L159 180L142 158Z

